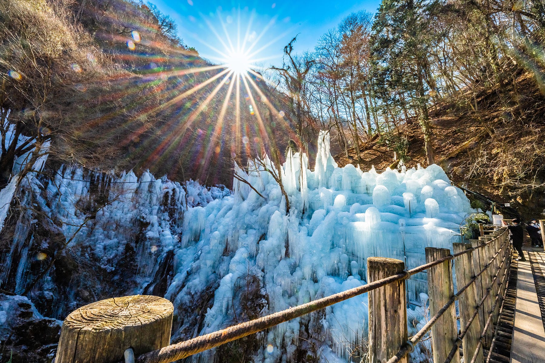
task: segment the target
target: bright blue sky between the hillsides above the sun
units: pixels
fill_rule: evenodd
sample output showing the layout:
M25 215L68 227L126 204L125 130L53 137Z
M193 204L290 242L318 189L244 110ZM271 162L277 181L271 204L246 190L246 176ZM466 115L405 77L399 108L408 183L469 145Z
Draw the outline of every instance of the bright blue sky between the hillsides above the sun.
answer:
M225 58L220 53L229 55L226 48L231 45L226 32L233 48L237 48L240 16L241 43L246 33L251 41L246 44L245 50L255 43L250 51L255 53L252 63L280 66L282 49L296 34L300 33L295 51L312 51L320 36L336 27L343 17L358 10L375 13L380 1L152 0L152 3L176 21L180 38L185 44L195 47L202 57L214 63L221 63L221 58Z

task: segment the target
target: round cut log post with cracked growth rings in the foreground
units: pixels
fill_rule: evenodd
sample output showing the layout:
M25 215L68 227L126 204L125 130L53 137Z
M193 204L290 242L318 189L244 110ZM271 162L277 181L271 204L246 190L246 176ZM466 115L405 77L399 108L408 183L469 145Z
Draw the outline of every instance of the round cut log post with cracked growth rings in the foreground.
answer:
M114 363L170 343L172 303L135 295L92 303L70 313L60 330L55 363Z

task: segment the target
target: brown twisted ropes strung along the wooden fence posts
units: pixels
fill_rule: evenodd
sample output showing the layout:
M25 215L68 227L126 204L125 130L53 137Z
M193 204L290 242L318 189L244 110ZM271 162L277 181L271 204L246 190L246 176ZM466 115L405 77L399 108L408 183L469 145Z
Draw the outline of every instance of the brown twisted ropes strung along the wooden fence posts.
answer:
M443 307L441 307L439 311L434 313L434 315L418 331L418 333L416 333L413 337L411 337L411 339L405 342L403 346L401 347L401 349L398 350L398 353L391 356L391 358L388 360L388 363L396 363L401 361L405 356L407 356L407 354L409 354L411 350L414 349L415 344L417 344L417 342L419 342L423 338L423 336L426 333L428 333L428 331L438 321L438 319L441 318L444 315L444 313L452 307L452 305L456 302L456 300L458 300L461 294L463 294L471 285L476 284L479 276L485 274L485 272L487 272L487 270L491 266L494 266L496 259L501 254L503 255L502 261L496 267L494 276L491 276L492 279L490 280L490 284L486 286L486 293L480 299L479 304L475 306L475 310L473 312L473 315L471 316L470 321L468 321L467 324L465 324L461 333L458 334L457 339L452 343L453 346L452 346L452 349L450 350L452 354L449 354L447 356L447 360L445 361L445 363L450 363L453 357L455 356L458 350L458 347L461 344L461 341L464 339L465 335L467 334L469 326L475 321L475 317L479 314L479 310L482 308L485 301L490 296L490 292L493 290L492 286L498 280L500 271L502 269L504 271L508 269L507 268L508 263L506 263L506 261L510 257L510 254L507 253L508 242L506 238L506 231L503 231L502 234L499 236L495 236L495 238L493 238L491 241L487 241L487 242L480 241L482 243L479 245L476 245L475 247L468 248L459 253L449 254L445 257L442 257L441 259L437 259L435 261L431 261L426 264L423 264L422 266L419 266L410 270L403 269L401 272L397 274L393 274L393 275L387 276L386 278L379 279L376 281L368 282L365 285L355 287L350 290L343 291L341 293L333 294L328 297L314 300L313 302L291 307L290 309L272 313L271 315L264 316L249 322L237 324L226 329L215 331L214 333L198 336L194 339L179 342L177 344L172 344L171 346L167 346L158 350L154 350L153 352L142 354L137 357L136 362L137 363L168 363L175 360L186 358L187 356L203 352L204 350L218 347L222 344L240 339L241 337L245 337L250 334L255 334L258 331L262 331L262 330L274 327L275 325L306 315L307 313L317 311L319 309L323 309L324 307L342 302L344 300L353 298L360 294L377 290L379 288L383 288L386 285L393 284L394 282L397 282L397 281L404 281L406 279L409 279L410 276L416 273L422 272L424 270L427 270L433 267L437 267L441 263L445 263L447 261L456 259L456 257L462 256L465 254L471 254L474 251L491 247L496 244L498 238L502 239L502 244L499 249L495 250L495 254L490 257L490 259L483 266L483 268L481 268L478 273L474 274L474 276L472 276L472 278L469 280L467 284L459 288L457 293L453 294L451 298L447 301L447 303ZM504 266L506 266L505 269L503 268ZM501 282L499 282L499 285L504 285L506 281L506 276L507 276L507 273L504 273L504 276L501 279ZM484 336L486 334L486 331L489 329L490 322L492 321L494 317L495 306L498 304L498 302L501 299L501 296L500 296L501 290L502 289L500 289L498 294L496 294L494 304L492 305L491 310L487 311L489 312L488 319L485 325L485 329L482 331L481 336ZM483 344L483 339L479 341L479 344L477 345L477 350L474 355L477 355L479 353L479 350L481 349L482 344ZM475 360L472 359L471 362L475 363Z

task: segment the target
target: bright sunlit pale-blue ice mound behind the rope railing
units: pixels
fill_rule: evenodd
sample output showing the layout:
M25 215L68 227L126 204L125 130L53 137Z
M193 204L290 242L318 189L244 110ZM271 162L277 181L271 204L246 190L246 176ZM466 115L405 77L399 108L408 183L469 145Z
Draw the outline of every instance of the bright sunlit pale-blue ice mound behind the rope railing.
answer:
M264 162L278 173L268 159ZM278 184L256 165L235 171L264 198L235 179L233 196L185 213L183 233L189 237L184 235L175 251L177 274L166 297L183 315L190 313L183 306L195 305L196 296L215 293L202 325L175 323L175 338L191 337L184 333L190 328L193 335L210 333L249 316L243 306L251 288L262 297L259 315L265 315L365 284L370 256L418 266L425 262L425 247L451 248L461 241L459 224L470 211L462 190L452 187L437 165L383 173L338 168L325 132L313 171L306 155L287 152L280 173L289 211ZM425 274L413 276L407 286L409 300L419 300L427 290ZM312 321L302 317L271 329L255 360L293 361L299 335L311 330L302 327ZM332 352L349 358L347 352L367 336L367 296L328 307L319 321L318 328L312 325L314 334L323 334Z

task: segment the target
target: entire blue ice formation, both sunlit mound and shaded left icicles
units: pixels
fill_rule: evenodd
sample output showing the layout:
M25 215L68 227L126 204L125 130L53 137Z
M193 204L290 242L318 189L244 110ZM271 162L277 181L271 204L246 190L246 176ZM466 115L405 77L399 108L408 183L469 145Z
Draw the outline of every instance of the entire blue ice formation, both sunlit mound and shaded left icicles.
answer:
M37 192L33 202L62 222L60 233L72 253L96 261L105 276L123 281L120 266L136 265L133 285L117 293L168 286L174 341L365 284L369 256L418 266L425 262L425 247L451 248L460 241L459 224L470 211L464 193L437 165L383 173L338 168L325 132L319 135L314 170L308 169L306 155L288 150L280 170L265 157L246 168L235 165L234 171L233 194L223 195L217 188L149 173L112 178L63 167L53 180L34 180L46 191ZM281 173L289 211L271 173ZM10 184L0 201L5 204L12 195ZM31 202L24 198L21 203ZM107 205L101 207L101 198ZM0 208L0 224L4 217ZM15 291L33 278L29 251L36 244L48 248L49 242L34 240L35 227L32 216L17 224L11 250L0 261L0 280L13 280ZM132 251L131 261L126 251ZM172 276L160 275L165 256L171 256ZM47 284L37 288L46 291ZM426 290L425 273L408 281L409 300L420 301ZM75 307L75 296L64 299ZM258 335L262 348L252 352L253 360L294 361L305 344L330 362L346 360L366 330L364 294ZM211 361L211 354L205 352L203 361Z

